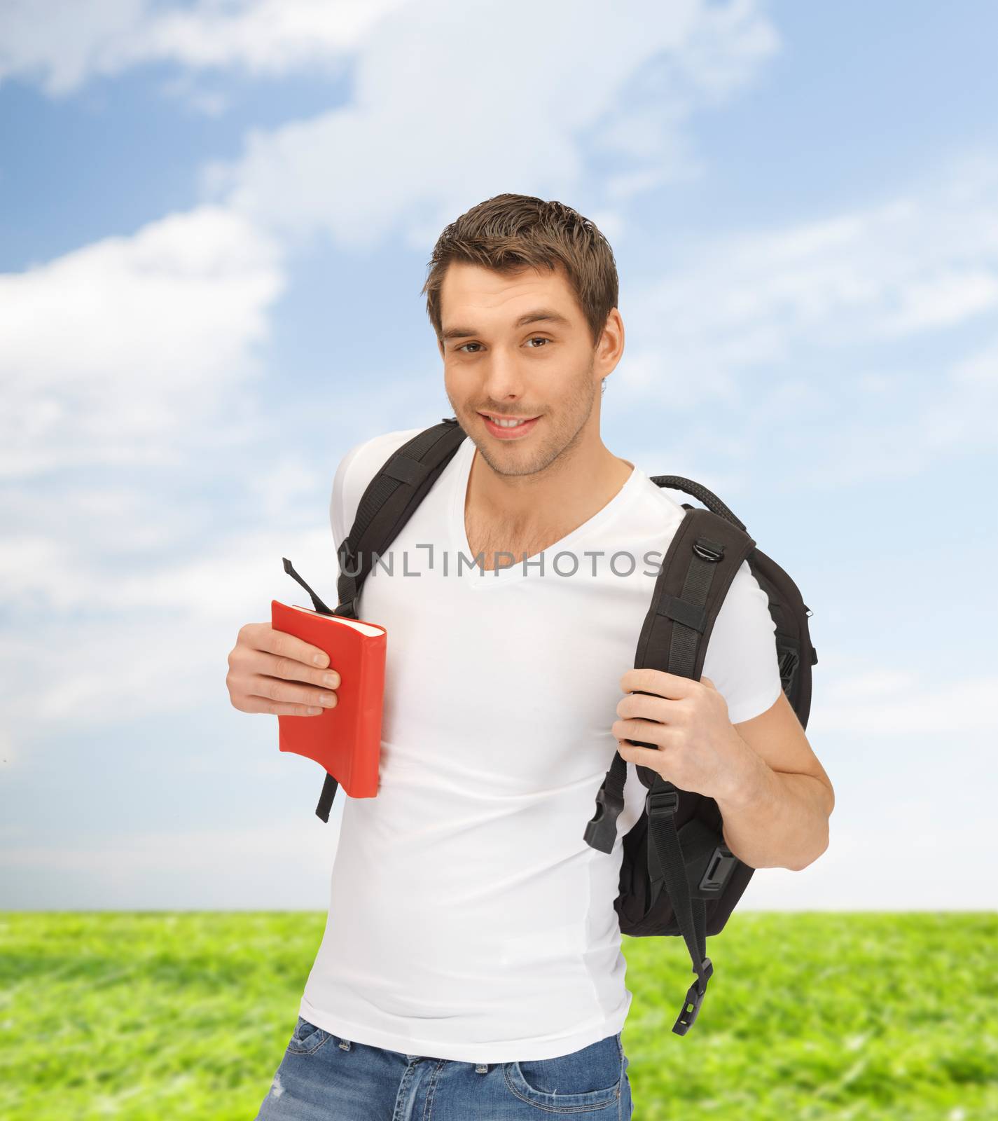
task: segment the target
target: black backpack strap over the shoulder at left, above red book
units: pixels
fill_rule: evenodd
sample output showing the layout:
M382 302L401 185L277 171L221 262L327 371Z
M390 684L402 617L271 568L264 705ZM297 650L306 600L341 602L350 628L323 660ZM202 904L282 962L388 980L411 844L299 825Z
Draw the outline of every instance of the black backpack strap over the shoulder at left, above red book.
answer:
M351 531L337 549L339 603L333 614L358 618L357 601L374 567L374 556L382 555L399 536L465 437L456 417L444 417L393 452L367 483ZM316 816L324 822L329 821L338 785L327 772L316 806Z

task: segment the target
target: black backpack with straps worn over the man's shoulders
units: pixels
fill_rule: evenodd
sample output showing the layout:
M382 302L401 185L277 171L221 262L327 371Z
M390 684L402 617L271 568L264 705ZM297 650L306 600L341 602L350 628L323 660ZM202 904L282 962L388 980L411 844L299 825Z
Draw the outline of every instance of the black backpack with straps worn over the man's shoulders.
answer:
M285 571L308 592L316 611L358 618L361 590L376 558L386 553L465 438L457 418L445 417L393 453L371 480L337 553L339 604L335 611L285 558ZM699 680L713 621L736 572L747 560L770 599L783 692L806 728L811 667L818 655L808 632L808 617L813 612L796 584L755 547L745 526L706 487L679 475L655 475L652 482L691 494L707 509L682 503L687 512L662 560L637 640L635 668L650 666ZM629 742L654 747L640 740ZM755 870L725 845L722 818L713 798L680 790L647 767L636 766L635 771L647 795L641 817L623 839L614 908L622 934L681 935L684 939L697 979L672 1028L683 1036L700 1011L713 974L707 936L724 929ZM600 852L613 850L626 775L626 762L615 751L596 794L596 813L584 833L585 841ZM337 785L327 773L316 808L324 822L329 819Z

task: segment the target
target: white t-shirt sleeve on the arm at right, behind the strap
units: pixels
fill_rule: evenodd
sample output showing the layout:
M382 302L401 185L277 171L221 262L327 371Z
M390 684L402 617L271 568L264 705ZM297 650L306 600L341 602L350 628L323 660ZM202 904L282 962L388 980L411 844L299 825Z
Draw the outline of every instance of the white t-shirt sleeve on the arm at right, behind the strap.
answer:
M727 702L733 724L766 712L783 689L775 630L768 596L743 560L713 622L702 673Z

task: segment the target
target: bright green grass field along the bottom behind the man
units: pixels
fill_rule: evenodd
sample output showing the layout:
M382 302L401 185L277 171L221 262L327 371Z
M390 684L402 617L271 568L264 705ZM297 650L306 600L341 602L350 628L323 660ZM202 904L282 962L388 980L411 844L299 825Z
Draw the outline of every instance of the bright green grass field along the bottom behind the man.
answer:
M0 915L0 1118L252 1121L324 923ZM995 914L736 911L680 1037L684 945L625 938L634 1119L994 1121L996 939Z

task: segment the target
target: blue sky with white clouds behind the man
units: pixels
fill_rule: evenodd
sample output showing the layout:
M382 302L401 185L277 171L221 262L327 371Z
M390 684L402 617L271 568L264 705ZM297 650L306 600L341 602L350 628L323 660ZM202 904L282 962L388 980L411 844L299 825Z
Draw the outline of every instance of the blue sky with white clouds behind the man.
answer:
M295 601L282 556L335 595L341 455L449 411L426 261L506 191L614 247L607 446L719 493L814 611L831 846L744 905L998 904L972 859L998 11L0 0L0 26L3 906L326 905L338 818L231 707L226 655Z

